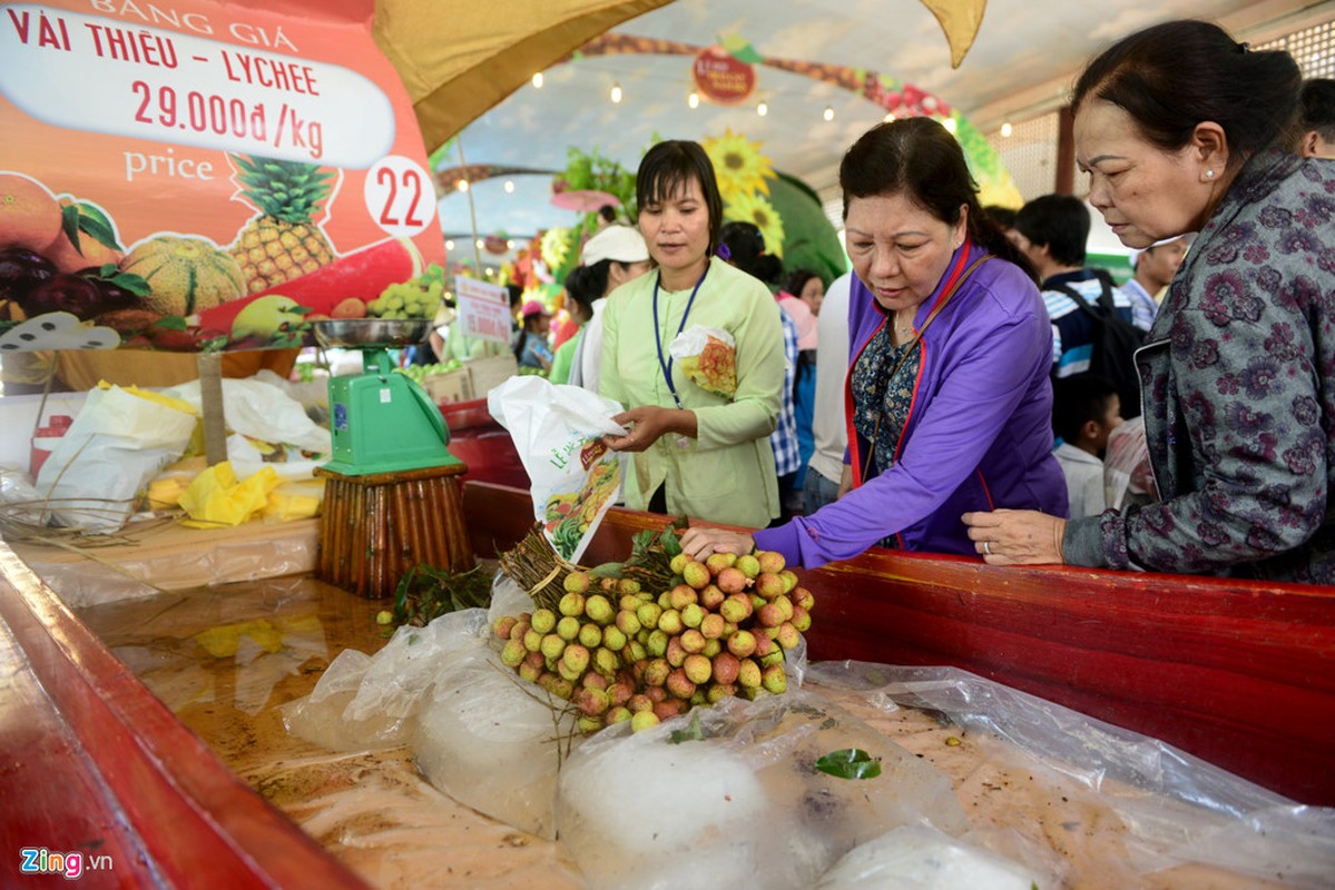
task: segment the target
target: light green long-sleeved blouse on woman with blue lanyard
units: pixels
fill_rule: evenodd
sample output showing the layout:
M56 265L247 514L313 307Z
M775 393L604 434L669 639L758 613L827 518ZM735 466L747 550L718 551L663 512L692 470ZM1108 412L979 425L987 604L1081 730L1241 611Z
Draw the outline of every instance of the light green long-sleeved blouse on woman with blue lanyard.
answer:
M603 311L599 390L623 407L676 408L654 348L653 292L658 272L621 286ZM690 288L658 292L658 335L663 360ZM737 394L729 399L696 386L673 362L672 379L681 407L696 412L698 436L669 432L649 450L631 455L626 506L643 510L666 486L668 511L708 522L762 528L778 515L778 480L769 434L774 431L784 387L784 328L769 288L720 259L692 306L685 330L722 328L737 342Z

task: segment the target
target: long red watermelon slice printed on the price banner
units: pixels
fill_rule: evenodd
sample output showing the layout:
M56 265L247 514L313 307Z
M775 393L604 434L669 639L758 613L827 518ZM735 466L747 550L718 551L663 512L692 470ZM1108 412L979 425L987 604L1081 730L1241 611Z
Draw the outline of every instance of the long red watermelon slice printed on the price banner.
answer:
M422 274L422 255L406 238L390 238L368 244L322 266L308 275L208 310L200 316L204 327L230 330L232 319L247 304L262 296L288 296L315 315L334 315L334 307L356 299L370 303L390 284L407 282ZM346 312L344 312L346 315Z

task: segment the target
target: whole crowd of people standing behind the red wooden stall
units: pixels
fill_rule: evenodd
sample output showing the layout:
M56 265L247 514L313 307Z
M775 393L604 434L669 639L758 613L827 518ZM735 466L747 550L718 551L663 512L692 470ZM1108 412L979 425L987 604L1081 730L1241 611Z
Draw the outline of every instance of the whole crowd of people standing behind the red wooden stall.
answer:
M979 204L940 123L868 131L833 282L724 220L697 143L658 143L637 224L565 283L570 339L531 348L549 318L525 307L517 355L623 407L625 503L698 520L698 558L1335 583L1335 83L1169 21L1091 61L1072 111L1088 199L1013 209ZM1089 207L1121 283L1087 258ZM728 386L674 358L692 332Z

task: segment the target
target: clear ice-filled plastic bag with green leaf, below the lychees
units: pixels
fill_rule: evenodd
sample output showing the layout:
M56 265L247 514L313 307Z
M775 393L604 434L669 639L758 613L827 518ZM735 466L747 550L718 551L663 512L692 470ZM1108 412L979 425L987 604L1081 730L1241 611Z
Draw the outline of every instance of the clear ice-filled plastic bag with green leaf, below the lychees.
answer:
M853 749L880 775L814 766ZM858 843L918 822L967 830L949 779L801 691L603 730L562 769L557 798L561 843L591 887L809 887Z

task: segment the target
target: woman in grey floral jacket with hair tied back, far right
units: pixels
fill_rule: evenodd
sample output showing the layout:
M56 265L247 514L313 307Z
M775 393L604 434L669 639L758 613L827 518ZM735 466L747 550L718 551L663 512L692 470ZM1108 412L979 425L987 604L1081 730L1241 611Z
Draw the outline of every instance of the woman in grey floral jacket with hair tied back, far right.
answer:
M1100 55L1076 160L1127 247L1199 231L1140 370L1161 500L967 514L989 563L1335 584L1335 163L1287 153L1300 73L1203 21Z

